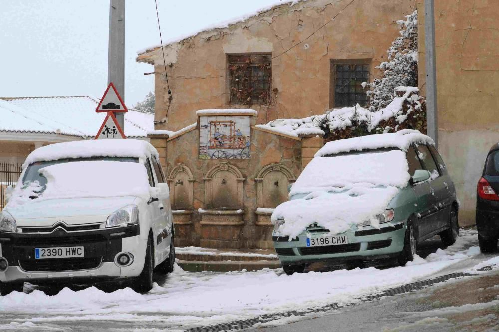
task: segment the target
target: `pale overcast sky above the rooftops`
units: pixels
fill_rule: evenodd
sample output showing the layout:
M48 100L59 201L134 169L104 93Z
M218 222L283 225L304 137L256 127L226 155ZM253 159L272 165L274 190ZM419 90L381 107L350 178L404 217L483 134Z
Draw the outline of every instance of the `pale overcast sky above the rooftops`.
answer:
M282 2L287 2L282 0ZM163 41L281 0L158 0ZM91 95L107 86L109 0L0 0L0 97ZM154 90L136 52L159 44L154 0L126 0L125 103Z

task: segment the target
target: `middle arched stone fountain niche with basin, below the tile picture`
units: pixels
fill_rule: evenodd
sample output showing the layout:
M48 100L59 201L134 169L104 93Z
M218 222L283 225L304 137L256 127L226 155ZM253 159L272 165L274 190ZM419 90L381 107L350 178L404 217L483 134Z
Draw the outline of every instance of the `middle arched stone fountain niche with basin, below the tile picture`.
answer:
M243 182L241 171L229 163L212 167L205 180L205 209L201 214L202 247L238 248L243 227Z

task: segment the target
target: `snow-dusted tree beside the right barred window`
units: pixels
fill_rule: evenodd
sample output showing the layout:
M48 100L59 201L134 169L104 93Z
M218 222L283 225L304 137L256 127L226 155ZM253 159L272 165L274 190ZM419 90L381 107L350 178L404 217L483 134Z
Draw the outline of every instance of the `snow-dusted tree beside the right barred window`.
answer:
M418 11L406 18L397 21L400 37L387 50L388 61L376 67L384 71L383 77L367 84L369 111L379 111L390 104L395 97L395 88L418 86Z

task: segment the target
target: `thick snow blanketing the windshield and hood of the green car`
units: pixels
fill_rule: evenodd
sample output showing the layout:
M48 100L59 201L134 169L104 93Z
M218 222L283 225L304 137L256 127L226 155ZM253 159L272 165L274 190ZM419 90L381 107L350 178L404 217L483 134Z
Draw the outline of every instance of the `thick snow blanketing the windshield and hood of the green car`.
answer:
M332 234L364 221L376 225L376 215L407 186L408 169L401 150L315 157L290 192L306 196L280 204L271 220L284 219L281 234L292 238L313 223Z

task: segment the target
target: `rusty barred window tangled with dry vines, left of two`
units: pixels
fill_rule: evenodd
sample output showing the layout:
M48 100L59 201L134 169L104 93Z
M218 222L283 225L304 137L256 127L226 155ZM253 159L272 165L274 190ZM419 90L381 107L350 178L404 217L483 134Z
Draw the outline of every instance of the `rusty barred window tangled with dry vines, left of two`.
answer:
M229 104L270 104L272 56L228 55Z

